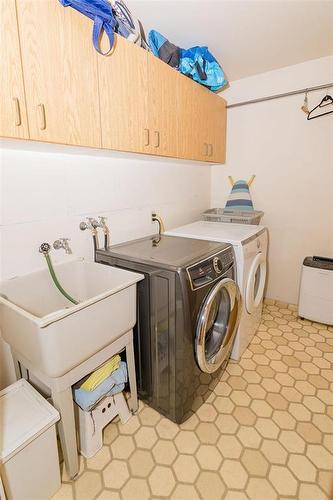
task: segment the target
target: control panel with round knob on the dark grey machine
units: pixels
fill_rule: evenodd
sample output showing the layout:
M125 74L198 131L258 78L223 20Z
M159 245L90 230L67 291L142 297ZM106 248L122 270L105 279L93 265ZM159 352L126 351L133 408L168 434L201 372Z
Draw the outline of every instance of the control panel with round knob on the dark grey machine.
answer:
M192 290L221 279L234 266L232 246L186 269Z

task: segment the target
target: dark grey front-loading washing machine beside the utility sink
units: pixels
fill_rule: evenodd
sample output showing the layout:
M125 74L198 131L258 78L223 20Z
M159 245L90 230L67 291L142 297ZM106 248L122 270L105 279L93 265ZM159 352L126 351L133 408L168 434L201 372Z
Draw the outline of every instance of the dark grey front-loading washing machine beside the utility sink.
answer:
M139 396L183 422L229 361L241 311L232 246L162 235L99 250L96 260L144 274L134 332Z

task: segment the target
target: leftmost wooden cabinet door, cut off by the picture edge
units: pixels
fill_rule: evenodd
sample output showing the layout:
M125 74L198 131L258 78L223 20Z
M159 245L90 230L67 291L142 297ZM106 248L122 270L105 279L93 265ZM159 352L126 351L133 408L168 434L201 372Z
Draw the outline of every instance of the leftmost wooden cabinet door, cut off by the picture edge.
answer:
M0 136L28 139L15 0L0 2Z

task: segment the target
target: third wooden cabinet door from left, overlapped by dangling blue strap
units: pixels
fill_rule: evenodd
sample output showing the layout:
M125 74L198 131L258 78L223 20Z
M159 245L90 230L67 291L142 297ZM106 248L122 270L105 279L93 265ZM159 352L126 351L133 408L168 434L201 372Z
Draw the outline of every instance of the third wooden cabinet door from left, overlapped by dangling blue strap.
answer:
M98 71L102 147L149 152L147 52L116 36L112 53L98 56Z

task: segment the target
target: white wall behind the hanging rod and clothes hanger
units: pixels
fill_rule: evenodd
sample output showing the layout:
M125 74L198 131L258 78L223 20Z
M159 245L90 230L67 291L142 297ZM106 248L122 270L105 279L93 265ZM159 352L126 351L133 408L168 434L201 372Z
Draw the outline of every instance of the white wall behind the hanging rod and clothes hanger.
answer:
M333 82L333 56L232 83L229 104ZM331 95L333 88L330 89ZM325 91L309 94L315 106ZM248 179L270 234L267 296L297 302L306 255L333 255L333 115L312 121L302 95L228 111L227 162L212 169L212 207L224 206L227 179Z

